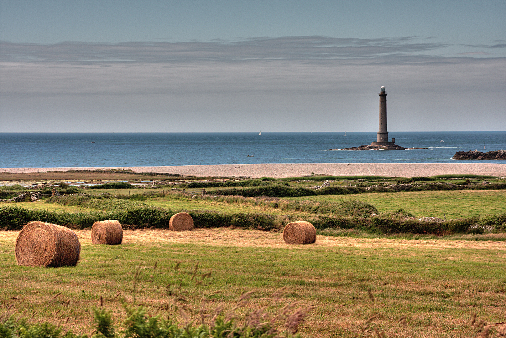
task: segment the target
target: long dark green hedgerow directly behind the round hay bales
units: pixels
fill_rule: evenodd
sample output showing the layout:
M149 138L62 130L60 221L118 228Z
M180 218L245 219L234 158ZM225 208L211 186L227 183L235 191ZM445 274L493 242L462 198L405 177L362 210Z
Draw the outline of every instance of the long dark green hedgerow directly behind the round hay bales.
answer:
M265 213L224 214L214 211L169 210L153 207L141 207L129 210L92 211L90 213L54 212L47 210L29 210L19 207L0 208L0 229L21 229L31 221L42 221L64 225L70 228L90 228L94 222L107 219L118 220L124 228L167 228L168 220L177 212L188 212L196 228L236 227L261 230L282 230L291 221L303 219L311 222L315 228L356 228L371 233L467 233L470 226L493 226L495 231L506 230L506 213L480 217L470 217L447 222L425 222L405 219L395 215L376 217L345 217L345 216L290 216L271 215Z

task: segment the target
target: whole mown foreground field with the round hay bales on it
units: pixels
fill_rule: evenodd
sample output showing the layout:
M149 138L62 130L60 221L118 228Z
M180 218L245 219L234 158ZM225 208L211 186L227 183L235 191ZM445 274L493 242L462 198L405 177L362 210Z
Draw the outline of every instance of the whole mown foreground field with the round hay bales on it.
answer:
M90 333L100 296L121 324L120 298L182 321L181 309L196 319L205 300L207 313L226 312L254 291L239 312L312 307L303 337L376 336L376 328L388 337L474 338L473 313L491 336L506 321L503 242L319 235L313 245L293 246L279 232L216 228L128 230L122 245L101 246L91 244L90 231L76 233L81 259L62 268L16 265L17 231L0 233L2 310L13 305L32 321Z

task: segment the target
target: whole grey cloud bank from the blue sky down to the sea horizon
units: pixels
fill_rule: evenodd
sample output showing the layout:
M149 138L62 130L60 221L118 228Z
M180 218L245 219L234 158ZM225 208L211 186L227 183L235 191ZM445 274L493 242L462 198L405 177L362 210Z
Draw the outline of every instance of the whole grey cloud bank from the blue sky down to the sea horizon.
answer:
M506 58L436 55L445 46L321 36L2 42L0 132L60 121L60 131L371 131L381 85L391 130L506 125Z

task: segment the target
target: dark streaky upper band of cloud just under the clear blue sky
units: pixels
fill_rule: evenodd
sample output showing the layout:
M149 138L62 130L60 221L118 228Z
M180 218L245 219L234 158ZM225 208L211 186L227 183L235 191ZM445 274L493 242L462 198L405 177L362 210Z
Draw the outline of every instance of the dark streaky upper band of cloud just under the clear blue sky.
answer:
M240 41L55 44L1 42L0 61L24 62L230 62L244 60L371 59L430 52L443 43L417 37L377 39L323 36L257 37Z

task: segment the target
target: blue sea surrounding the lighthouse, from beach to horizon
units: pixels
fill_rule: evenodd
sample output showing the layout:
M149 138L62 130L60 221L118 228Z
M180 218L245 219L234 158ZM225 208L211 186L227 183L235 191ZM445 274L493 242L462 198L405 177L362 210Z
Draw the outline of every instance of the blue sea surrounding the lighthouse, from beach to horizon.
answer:
M506 149L506 131L390 132L389 136L400 146L430 150L328 151L370 144L376 132L0 133L0 168L457 163L469 161L452 160L456 151L484 151L485 142L485 151ZM484 162L498 163L480 163Z

